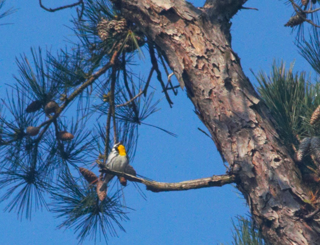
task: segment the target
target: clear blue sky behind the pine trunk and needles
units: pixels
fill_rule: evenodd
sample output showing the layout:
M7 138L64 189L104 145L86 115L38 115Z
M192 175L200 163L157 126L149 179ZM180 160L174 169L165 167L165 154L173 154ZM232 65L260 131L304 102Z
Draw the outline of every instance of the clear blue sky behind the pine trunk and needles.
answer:
M71 3L43 1L43 4L53 8L67 2ZM200 6L205 1L191 2ZM232 47L253 84L256 81L249 69L269 73L274 58L283 59L287 65L296 59L295 70L311 71L309 64L298 54L291 28L284 27L292 14L292 8L284 2L250 0L245 6L259 11L242 10L232 19ZM16 7L18 11L0 20L1 23L13 23L0 26L0 98L3 99L6 98L6 84L13 85L12 75L18 75L15 56L26 53L31 57L30 47L48 48L52 53L64 48L66 39L75 40L68 26L72 26L69 19L76 14L75 9L46 12L39 7L38 1L12 0L5 6ZM161 91L155 78L154 86ZM226 169L214 143L197 130L197 127L205 127L193 112L186 93L180 90L172 100L172 109L163 100L159 104L161 110L150 116L146 123L165 128L178 137L141 126L136 156L131 164L139 174L161 182L224 174ZM241 195L231 185L185 192L144 192L147 201L139 196L132 184L124 189L126 204L135 211L130 211L130 221L123 223L126 233L119 231L118 238L109 237L109 244L231 243L231 218L248 212ZM0 195L3 193L0 191ZM6 204L0 203L1 245L77 243L71 229L56 229L61 219L55 219L52 213L38 211L31 221L20 221L16 213L3 212ZM84 244L92 242L86 240Z

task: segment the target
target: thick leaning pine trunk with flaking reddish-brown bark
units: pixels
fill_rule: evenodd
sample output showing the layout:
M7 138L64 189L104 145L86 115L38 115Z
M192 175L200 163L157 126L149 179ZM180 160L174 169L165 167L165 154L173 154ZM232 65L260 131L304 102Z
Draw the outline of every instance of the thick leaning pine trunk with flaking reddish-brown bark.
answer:
M304 201L310 197L294 154L231 48L230 19L246 1L208 0L203 8L184 0L113 2L165 55L236 175L265 241L320 244L319 216L306 217L314 209Z

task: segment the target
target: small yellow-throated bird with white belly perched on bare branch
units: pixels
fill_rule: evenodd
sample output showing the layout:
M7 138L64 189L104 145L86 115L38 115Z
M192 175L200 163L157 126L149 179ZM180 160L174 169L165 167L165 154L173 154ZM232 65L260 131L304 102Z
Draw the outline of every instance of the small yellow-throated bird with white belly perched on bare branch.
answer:
M116 143L110 154L108 155L106 166L107 168L118 171L124 172L125 168L129 165L129 158L127 152L125 151L124 145L120 143ZM100 192L108 191L108 183L114 177L113 174L106 174L104 177L104 181L102 186L100 187Z

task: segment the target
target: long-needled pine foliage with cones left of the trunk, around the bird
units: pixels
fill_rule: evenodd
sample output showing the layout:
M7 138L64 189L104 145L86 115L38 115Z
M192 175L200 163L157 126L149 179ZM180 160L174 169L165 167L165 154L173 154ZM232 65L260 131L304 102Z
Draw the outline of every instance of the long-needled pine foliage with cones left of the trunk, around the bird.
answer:
M80 241L107 240L124 230L129 209L120 186L127 181L114 178L107 196L98 170L114 143L122 142L133 160L138 127L158 110L148 90L151 77L159 72L157 62L166 66L156 46L119 14L108 1L86 1L72 20L78 42L57 55L32 48L31 58L17 58L16 84L0 108L0 188L6 190L0 201L21 218L47 208ZM143 58L141 48L154 62L148 79L132 69ZM161 76L158 82L172 103L172 83ZM132 166L128 171L136 175Z

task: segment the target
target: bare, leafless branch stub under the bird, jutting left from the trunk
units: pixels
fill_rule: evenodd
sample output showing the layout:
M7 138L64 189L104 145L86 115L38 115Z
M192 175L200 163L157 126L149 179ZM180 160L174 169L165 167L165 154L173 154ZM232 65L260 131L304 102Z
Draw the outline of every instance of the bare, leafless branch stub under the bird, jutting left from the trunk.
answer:
M234 183L236 180L235 175L214 175L208 178L194 179L178 183L164 183L157 181L149 181L143 178L125 174L123 172L113 171L108 168L103 168L99 171L103 173L114 174L116 176L121 176L132 182L144 184L147 187L147 190L152 192L187 191L192 189L200 189L205 187L231 184Z

